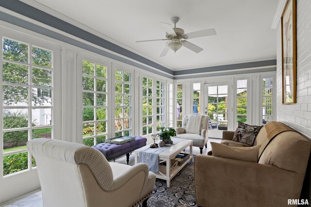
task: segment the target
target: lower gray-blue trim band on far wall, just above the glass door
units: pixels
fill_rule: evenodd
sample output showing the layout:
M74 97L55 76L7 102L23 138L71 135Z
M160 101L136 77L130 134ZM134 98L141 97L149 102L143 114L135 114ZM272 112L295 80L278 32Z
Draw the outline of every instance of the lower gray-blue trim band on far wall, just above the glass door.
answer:
M204 78L204 77L214 77L214 76L230 76L230 75L238 75L238 74L249 74L249 73L263 73L263 72L273 72L276 71L275 67L267 67L267 68L258 68L258 69L245 69L238 71L225 71L219 73L206 73L206 74L193 74L186 76L176 76L175 80L179 79L195 79L195 78Z

